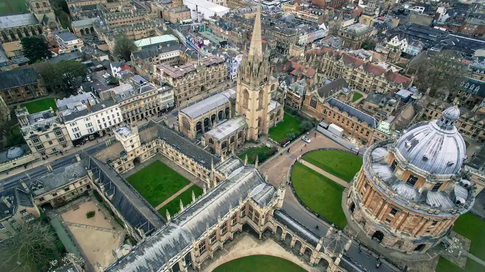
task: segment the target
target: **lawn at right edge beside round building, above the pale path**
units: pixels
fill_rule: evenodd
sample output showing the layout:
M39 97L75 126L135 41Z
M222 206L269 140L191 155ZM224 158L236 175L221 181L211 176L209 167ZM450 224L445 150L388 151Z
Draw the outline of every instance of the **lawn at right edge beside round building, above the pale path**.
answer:
M455 221L453 231L470 239L470 253L485 260L485 222L471 213L465 213ZM485 271L485 267L482 271Z

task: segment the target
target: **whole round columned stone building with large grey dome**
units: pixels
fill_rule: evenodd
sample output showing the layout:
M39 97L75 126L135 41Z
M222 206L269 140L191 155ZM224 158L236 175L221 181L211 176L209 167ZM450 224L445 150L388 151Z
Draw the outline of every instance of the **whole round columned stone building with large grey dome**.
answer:
M397 140L364 153L346 201L349 220L383 247L426 252L470 210L476 185L462 176L465 142L454 106L431 122L411 126Z

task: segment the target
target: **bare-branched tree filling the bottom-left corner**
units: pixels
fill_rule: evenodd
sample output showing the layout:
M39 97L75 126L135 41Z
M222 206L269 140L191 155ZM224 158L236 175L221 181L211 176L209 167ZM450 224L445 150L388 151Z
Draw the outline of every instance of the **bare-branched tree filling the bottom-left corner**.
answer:
M47 271L59 258L62 243L42 221L21 225L15 236L0 243L0 263L6 271Z

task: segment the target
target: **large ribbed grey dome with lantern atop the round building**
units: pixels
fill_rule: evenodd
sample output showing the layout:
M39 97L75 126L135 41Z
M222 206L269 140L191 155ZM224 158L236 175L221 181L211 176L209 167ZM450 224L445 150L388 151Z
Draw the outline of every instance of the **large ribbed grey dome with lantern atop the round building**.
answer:
M461 169L465 141L455 128L460 110L453 106L431 122L411 127L396 142L396 156L429 174L454 175Z

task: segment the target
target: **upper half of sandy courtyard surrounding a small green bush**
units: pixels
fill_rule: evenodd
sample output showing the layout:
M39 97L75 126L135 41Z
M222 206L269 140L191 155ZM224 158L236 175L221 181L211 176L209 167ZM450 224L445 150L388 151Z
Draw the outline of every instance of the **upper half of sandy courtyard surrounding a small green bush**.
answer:
M86 201L79 204L78 208L70 209L62 214L62 219L66 222L89 225L93 227L111 229L113 226L105 219L105 216L98 210L94 201ZM91 218L86 218L86 212L94 210L96 213Z

